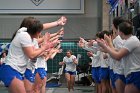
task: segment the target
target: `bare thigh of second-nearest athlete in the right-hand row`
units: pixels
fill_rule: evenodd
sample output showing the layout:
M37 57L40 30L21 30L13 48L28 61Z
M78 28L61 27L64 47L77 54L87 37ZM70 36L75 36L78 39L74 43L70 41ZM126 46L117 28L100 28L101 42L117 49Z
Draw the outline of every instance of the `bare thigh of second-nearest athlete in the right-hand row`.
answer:
M117 79L115 82L117 93L124 93L125 84L122 80Z

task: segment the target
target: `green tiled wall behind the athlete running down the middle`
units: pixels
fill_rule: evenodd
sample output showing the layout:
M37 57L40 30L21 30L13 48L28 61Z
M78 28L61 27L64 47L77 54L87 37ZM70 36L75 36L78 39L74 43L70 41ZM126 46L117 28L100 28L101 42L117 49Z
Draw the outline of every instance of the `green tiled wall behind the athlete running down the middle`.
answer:
M63 61L63 57L65 56L65 53L67 50L72 50L73 55L77 56L77 54L81 54L81 58L79 59L79 65L84 65L85 63L89 62L89 57L87 56L85 50L77 46L77 42L75 41L67 41L62 42L61 48L63 49L63 52L60 54L57 54L53 60L48 60L48 72L57 72L58 69L61 67L59 66L59 62Z

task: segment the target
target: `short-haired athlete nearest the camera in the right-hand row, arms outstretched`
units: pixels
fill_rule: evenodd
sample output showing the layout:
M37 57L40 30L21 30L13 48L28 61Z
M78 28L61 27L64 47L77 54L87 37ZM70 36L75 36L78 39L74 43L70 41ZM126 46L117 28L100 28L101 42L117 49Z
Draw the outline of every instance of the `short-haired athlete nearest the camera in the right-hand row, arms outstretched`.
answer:
M98 40L98 43L114 59L124 59L125 93L140 93L140 42L137 37L132 35L132 32L133 27L129 22L123 22L119 25L119 35L126 41L118 51L106 46L100 40Z

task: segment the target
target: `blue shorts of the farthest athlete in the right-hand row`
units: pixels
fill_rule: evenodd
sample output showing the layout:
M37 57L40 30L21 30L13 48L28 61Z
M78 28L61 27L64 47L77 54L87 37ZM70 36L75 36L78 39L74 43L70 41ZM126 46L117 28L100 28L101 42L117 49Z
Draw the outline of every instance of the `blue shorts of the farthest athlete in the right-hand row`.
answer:
M92 67L92 78L96 83L101 83L100 81L100 67Z

